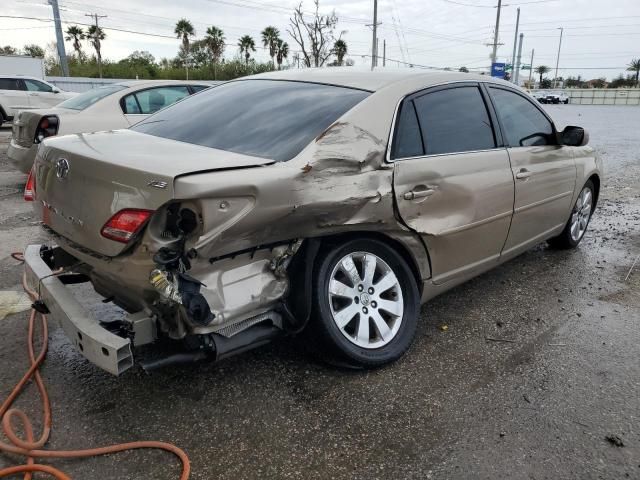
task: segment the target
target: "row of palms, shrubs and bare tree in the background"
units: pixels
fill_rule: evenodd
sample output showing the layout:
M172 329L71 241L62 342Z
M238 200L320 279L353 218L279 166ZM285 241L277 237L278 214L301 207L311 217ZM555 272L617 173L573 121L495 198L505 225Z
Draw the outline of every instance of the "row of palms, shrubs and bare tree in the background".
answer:
M229 80L243 75L251 75L287 66L320 67L323 65L353 65L346 59L348 47L341 32L334 35L338 23L335 12L322 15L319 12L319 0L313 0L315 12L313 18L303 14L300 4L290 17L287 33L293 38L297 49L292 52L289 44L283 40L280 30L272 25L260 33L260 42L268 50L269 62L257 62L253 58L256 52L256 40L251 35L242 35L236 43L228 43L224 31L215 25L208 27L202 38L196 38L193 23L181 18L175 24L174 34L180 45L174 58L156 58L146 51L135 51L119 61L104 60L102 46L107 41L105 29L91 25L87 29L79 25L70 25L65 30L64 39L73 48L69 55L71 76L97 77L99 66L102 76L107 78L174 78L174 79L214 79ZM304 17L303 17L304 15ZM108 29L107 29L108 30ZM55 44L54 44L55 45ZM228 47L236 50L233 59L225 58ZM61 68L55 53L46 55L38 45L26 45L23 52L33 57L45 58L47 75L61 75ZM13 47L0 47L0 54L23 53ZM89 53L91 52L91 53Z

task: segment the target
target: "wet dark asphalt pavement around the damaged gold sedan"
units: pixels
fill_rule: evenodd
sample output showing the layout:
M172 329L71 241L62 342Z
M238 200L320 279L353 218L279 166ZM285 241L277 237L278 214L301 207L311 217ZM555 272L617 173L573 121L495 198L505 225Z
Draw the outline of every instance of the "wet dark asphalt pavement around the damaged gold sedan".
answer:
M580 248L539 245L436 298L409 353L371 372L282 340L115 378L52 326L48 448L171 441L193 479L640 479L640 265L625 280L640 254L640 108L547 109L586 127L605 163ZM7 164L9 133L0 129L0 289L19 291L8 255L46 234L21 200L25 176ZM27 367L26 320L0 319L1 399ZM35 419L30 393L18 405ZM16 460L0 456L0 467ZM175 459L154 451L53 463L76 479L178 478Z

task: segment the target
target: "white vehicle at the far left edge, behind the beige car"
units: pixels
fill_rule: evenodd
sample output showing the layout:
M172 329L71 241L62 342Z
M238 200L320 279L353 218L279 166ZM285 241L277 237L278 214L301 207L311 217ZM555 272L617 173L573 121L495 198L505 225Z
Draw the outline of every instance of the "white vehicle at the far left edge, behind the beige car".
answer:
M39 78L0 75L0 125L10 122L18 110L53 107L75 95Z

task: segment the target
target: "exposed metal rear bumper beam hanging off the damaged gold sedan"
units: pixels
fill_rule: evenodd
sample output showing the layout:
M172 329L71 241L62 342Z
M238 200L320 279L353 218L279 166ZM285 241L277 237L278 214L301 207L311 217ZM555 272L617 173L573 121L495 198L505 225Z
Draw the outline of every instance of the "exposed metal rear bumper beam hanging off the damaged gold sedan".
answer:
M120 375L133 365L131 341L100 326L56 276L43 259L42 251L42 245L29 245L24 252L27 285L38 292L50 312L50 318L60 323L67 337L87 360L109 373Z

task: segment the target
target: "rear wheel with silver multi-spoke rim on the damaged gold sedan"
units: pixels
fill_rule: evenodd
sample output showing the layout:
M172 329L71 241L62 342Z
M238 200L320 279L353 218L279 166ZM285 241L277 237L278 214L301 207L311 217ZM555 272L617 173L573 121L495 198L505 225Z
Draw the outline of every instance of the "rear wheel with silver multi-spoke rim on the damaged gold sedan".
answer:
M374 368L400 358L415 336L420 295L407 262L379 240L321 252L307 339L332 364Z

